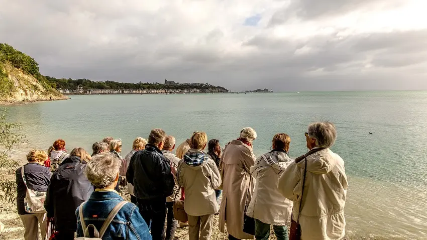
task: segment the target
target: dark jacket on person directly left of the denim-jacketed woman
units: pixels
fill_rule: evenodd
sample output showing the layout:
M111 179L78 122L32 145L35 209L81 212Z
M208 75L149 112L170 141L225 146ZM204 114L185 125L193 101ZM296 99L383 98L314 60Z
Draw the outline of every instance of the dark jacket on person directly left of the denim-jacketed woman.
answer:
M79 157L66 158L53 173L44 203L47 216L55 218L58 231L76 231L76 208L87 201L93 186L83 174L86 163Z

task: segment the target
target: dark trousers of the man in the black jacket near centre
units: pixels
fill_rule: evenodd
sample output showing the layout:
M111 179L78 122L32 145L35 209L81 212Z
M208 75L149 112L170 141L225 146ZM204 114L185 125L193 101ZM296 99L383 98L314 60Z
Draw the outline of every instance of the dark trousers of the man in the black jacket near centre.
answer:
M165 239L166 198L154 200L138 199L138 208L147 225L151 221L153 240Z

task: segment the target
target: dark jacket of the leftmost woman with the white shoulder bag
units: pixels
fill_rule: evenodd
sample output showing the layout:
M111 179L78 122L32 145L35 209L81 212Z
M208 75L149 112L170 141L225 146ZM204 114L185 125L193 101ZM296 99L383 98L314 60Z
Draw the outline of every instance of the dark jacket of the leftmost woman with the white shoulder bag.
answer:
M50 169L34 162L25 164L23 168L28 188L35 191L46 192L50 177L52 176ZM16 170L15 176L17 185L16 205L18 207L18 214L25 215L28 214L24 208L24 198L27 193L27 188L25 187L24 180L22 179L21 168Z

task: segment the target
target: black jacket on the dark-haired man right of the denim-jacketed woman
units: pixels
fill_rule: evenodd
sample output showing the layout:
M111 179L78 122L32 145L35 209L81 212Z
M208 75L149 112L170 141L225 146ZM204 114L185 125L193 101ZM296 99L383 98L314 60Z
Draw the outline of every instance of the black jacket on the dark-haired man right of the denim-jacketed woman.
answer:
M151 144L132 156L126 178L134 185L135 196L142 200L166 201L175 185L169 160Z

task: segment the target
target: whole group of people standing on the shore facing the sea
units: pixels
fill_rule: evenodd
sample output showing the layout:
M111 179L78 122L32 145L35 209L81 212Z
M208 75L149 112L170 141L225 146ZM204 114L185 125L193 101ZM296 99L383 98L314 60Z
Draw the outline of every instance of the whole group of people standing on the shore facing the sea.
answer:
M32 150L16 171L24 238L38 239L40 225L44 239L53 223L52 239L76 234L173 240L178 226L173 206L180 200L188 222L179 225L188 225L190 240L210 239L216 214L230 240L268 239L271 225L277 239L286 240L290 223L299 226L304 240L343 239L348 183L343 159L330 150L336 137L332 123L310 124L309 151L296 159L288 155L291 139L285 133L274 135L272 150L256 158L252 128L244 128L223 151L219 140L194 132L175 154L175 138L153 129L148 140L135 139L125 158L120 139L94 143L92 155L82 148L68 154L65 142L57 140L50 154ZM123 200L119 185L127 185L131 202ZM46 192L45 212L27 211L27 187ZM244 231L245 218L254 219L255 235Z

